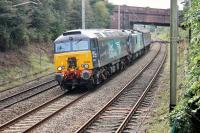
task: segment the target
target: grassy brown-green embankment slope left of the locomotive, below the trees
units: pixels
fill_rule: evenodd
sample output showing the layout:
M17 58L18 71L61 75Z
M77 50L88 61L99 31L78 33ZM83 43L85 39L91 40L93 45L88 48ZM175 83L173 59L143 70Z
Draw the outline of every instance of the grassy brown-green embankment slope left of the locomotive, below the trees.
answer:
M0 92L52 73L51 57L51 49L45 45L28 45L1 54Z

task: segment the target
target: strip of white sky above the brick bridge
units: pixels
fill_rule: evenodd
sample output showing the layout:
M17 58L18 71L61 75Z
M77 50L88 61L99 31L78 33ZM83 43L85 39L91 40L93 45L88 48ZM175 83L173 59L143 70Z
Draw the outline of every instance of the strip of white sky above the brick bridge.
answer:
M151 8L161 8L161 9L170 8L170 0L108 0L108 1L110 3L113 3L114 5L151 7ZM182 0L178 1L180 3L180 1ZM180 9L181 8L182 7L180 7Z

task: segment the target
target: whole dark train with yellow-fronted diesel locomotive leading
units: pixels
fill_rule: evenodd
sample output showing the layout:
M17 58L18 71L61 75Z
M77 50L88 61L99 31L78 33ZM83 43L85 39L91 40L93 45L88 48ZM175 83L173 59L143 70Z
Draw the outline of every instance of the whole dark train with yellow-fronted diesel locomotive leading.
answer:
M63 89L92 88L125 69L150 47L149 32L87 29L64 32L54 41L55 79Z

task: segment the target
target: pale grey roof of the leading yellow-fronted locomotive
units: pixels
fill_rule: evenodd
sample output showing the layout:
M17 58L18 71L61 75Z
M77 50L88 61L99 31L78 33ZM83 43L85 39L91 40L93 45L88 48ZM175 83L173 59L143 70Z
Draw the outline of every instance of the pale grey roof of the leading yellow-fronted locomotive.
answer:
M64 32L61 36L59 36L56 41L65 40L68 37L78 37L80 38L109 38L109 37L120 37L120 36L128 36L126 32L123 30L117 29L77 29L77 30L70 30Z

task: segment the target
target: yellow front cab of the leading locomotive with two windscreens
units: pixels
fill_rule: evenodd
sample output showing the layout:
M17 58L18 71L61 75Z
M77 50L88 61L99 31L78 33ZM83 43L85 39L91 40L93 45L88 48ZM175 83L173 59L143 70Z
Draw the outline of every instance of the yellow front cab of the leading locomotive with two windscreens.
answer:
M54 42L55 79L63 89L87 85L97 64L97 41L80 32L64 33Z

